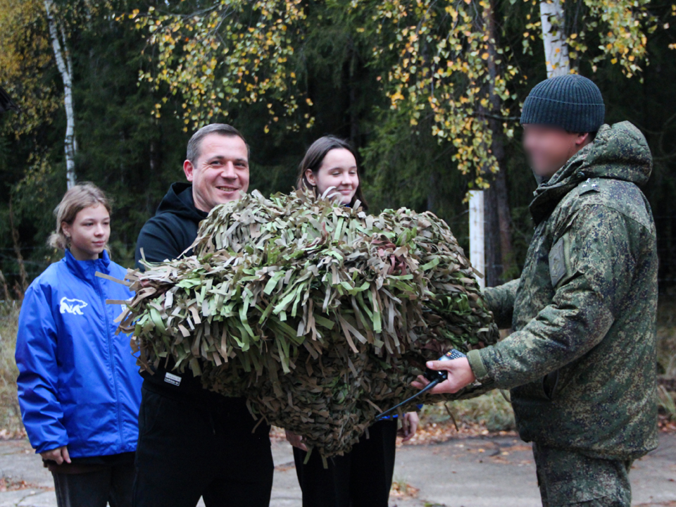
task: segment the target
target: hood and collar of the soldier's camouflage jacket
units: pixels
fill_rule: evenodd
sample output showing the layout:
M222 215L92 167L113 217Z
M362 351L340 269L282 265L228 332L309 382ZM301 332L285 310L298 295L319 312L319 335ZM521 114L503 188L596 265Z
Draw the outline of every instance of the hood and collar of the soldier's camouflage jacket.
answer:
M592 144L572 156L549 180L539 184L530 213L539 224L572 189L589 178L646 184L653 157L641 131L630 122L603 125Z

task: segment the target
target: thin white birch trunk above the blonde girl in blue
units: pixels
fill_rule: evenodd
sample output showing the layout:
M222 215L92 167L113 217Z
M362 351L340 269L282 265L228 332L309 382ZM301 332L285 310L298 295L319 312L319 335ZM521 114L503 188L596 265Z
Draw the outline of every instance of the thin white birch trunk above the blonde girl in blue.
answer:
M77 141L75 140L75 108L73 106L73 61L65 44L65 33L58 27L54 19L54 1L44 0L44 10L47 14L51 46L54 49L56 67L63 80L63 105L65 106L65 175L68 188L75 185L75 154Z

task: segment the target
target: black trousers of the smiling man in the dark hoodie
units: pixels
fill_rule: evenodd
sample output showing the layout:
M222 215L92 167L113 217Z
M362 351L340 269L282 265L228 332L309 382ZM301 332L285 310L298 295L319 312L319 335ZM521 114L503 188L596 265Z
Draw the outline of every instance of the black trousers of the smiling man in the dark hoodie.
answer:
M147 382L147 381L146 381ZM240 399L198 403L142 389L134 507L268 507L270 427Z

